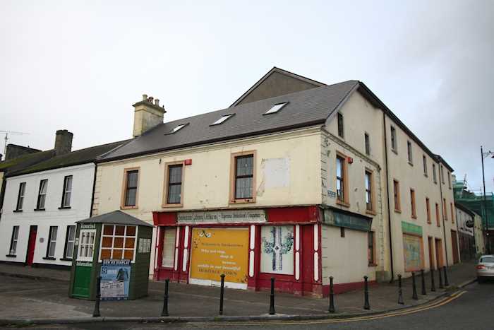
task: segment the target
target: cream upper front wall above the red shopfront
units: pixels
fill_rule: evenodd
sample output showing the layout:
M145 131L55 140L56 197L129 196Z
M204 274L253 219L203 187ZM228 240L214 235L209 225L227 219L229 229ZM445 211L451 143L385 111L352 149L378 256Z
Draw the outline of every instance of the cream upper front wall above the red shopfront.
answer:
M152 211L320 204L319 145L320 129L313 128L101 163L97 167L93 215L120 208L123 170L128 167L140 167L138 208L125 211L148 223L152 223ZM256 201L229 204L231 153L252 150L256 151ZM183 167L183 207L162 208L165 163L186 159L191 159L192 165ZM287 172L268 170L272 168L267 165L270 160L280 159L289 164ZM156 228L153 246L155 239Z

